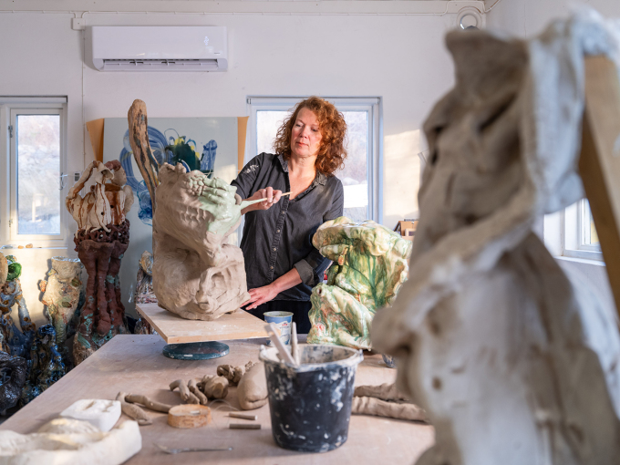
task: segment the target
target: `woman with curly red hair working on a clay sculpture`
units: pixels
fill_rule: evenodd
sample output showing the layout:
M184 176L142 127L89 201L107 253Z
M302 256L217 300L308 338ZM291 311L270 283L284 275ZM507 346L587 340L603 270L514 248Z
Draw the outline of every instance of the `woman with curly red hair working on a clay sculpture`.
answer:
M345 136L342 113L322 98L307 98L278 129L276 155L254 157L232 182L244 199L267 199L242 211L241 248L251 296L245 310L259 317L292 312L300 334L310 331L312 287L329 265L312 236L344 208L342 182L334 172L346 158Z

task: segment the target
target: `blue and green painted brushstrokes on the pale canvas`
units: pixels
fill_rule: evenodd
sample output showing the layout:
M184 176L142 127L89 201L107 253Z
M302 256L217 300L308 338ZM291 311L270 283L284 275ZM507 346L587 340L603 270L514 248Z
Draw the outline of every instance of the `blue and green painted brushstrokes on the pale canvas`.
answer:
M159 129L148 127L150 150L158 163L181 163L187 171L199 170L210 178L215 167L217 142L209 140L202 146L202 155L198 155L195 140L187 140L186 136L179 136L176 129L166 129L162 134ZM123 136L123 149L119 155L120 164L127 174L127 183L133 190L140 208L138 217L140 221L152 226L153 209L150 202L150 193L144 180L138 181L133 174L133 152L129 144L129 129Z

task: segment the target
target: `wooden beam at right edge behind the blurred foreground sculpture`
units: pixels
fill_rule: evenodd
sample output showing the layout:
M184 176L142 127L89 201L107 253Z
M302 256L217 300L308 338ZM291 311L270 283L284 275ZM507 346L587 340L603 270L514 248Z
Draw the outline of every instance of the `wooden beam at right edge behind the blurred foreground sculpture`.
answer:
M620 80L606 57L585 59L579 171L620 315Z

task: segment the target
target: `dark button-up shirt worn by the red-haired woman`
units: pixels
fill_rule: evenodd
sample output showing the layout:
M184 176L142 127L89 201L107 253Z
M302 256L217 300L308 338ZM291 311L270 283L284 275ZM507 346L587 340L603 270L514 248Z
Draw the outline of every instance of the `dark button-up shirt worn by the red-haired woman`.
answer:
M282 155L261 153L248 162L231 182L242 199L267 187L291 190L288 163ZM241 248L248 289L271 284L296 268L302 283L277 294L274 300L310 300L312 286L323 280L329 260L312 244L316 229L342 216L342 182L316 171L315 181L293 200L280 199L269 210L245 214Z

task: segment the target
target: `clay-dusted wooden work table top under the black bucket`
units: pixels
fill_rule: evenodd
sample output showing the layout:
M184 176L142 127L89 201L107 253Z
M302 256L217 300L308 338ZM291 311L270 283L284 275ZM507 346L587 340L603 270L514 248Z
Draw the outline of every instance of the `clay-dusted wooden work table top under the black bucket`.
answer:
M227 341L231 353L212 360L174 360L161 355L164 342L160 336L115 336L94 355L70 371L54 386L8 418L0 429L20 433L34 432L41 425L80 398L116 398L119 391L145 394L151 398L176 405L179 394L171 392L168 384L179 378L215 374L222 363L242 365L257 360L259 346L265 339ZM357 368L356 385L391 382L396 370L387 368L381 356L366 356ZM226 398L239 408L236 388ZM223 405L223 404L219 404ZM142 449L129 464L157 465L163 463L240 463L261 465L346 463L390 465L411 464L428 449L434 440L433 428L409 421L362 415L351 416L346 443L322 454L295 452L277 447L272 438L269 405L247 413L258 415L262 429L228 429L226 408L212 406L213 421L200 429L174 429L168 426L166 414L149 411L153 424L140 427ZM119 421L124 421L123 416ZM246 420L234 419L234 422ZM231 452L188 452L168 455L154 446L170 447L232 446Z

